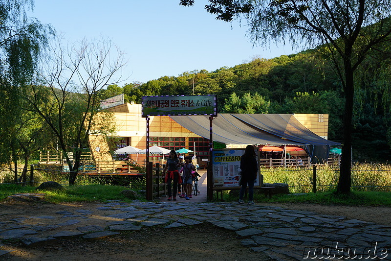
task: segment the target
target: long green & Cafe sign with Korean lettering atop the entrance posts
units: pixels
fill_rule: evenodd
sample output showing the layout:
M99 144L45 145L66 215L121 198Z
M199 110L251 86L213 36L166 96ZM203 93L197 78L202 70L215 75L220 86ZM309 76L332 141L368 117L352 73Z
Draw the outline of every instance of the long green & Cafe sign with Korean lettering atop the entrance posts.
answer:
M216 95L143 96L142 117L217 115Z

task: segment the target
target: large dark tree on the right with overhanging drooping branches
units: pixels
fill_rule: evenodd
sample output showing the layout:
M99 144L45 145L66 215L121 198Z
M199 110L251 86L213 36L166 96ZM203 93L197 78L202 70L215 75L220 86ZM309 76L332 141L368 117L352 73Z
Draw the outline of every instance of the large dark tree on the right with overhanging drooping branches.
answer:
M180 0L189 6L194 0ZM209 0L217 20L245 21L253 43L290 41L316 48L338 75L345 96L343 148L337 192L351 188L351 132L355 77L363 61L391 42L389 0ZM356 86L358 88L359 86Z

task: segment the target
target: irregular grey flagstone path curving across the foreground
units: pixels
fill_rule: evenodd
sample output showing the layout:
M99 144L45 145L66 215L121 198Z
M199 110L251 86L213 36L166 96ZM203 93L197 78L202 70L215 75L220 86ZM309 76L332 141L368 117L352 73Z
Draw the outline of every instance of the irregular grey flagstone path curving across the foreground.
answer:
M391 260L391 227L236 202L112 201L96 204L92 210L73 208L44 216L9 220L0 215L0 246L6 239L33 246L72 237L99 239L143 226L170 229L200 222L235 231L243 246L274 260ZM10 251L0 250L0 259Z

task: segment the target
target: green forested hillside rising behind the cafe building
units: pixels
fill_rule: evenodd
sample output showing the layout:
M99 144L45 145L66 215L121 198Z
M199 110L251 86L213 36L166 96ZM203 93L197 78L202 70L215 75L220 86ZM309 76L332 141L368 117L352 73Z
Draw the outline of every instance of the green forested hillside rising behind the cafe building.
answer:
M374 76L381 75L374 73L378 70L376 62L367 61L364 68L367 71L358 77L360 82L356 84L362 86L355 99L353 159L387 161L391 158L391 118L390 112L384 110L380 94L382 88L387 89L388 81ZM211 72L186 71L147 83L112 85L100 97L121 93L125 94L126 102L136 103L141 102L143 95L214 94L220 113L329 114L328 139L342 140L343 90L329 63L314 50L255 59Z

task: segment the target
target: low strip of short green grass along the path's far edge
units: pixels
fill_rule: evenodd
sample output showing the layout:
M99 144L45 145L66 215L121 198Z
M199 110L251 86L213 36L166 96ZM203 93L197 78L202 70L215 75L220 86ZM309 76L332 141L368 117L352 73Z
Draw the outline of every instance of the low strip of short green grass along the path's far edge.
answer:
M69 186L63 191L36 191L36 187L21 187L17 185L0 185L0 199L4 199L15 193L35 193L45 194L45 200L51 203L60 202L82 202L82 201L108 201L121 200L130 201L120 192L128 188L112 185L86 185L86 186ZM239 192L239 190L236 190ZM145 196L137 198L145 201ZM224 201L238 201L238 193L229 193L228 190L223 192ZM336 194L334 191L273 195L267 198L263 194L254 194L256 202L283 202L283 203L315 203L322 205L346 205L346 206L386 206L391 207L390 192L381 191L352 191L348 195Z

